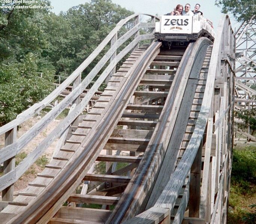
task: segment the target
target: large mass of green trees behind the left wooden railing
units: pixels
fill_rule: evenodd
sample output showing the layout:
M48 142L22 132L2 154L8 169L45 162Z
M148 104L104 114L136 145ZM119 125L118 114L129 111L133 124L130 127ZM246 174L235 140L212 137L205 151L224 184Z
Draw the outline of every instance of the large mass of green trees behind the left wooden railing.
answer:
M48 0L38 1L51 5ZM69 76L131 14L111 0L91 0L60 15L47 9L0 9L0 125L48 95L55 74ZM42 78L38 73L43 73Z

